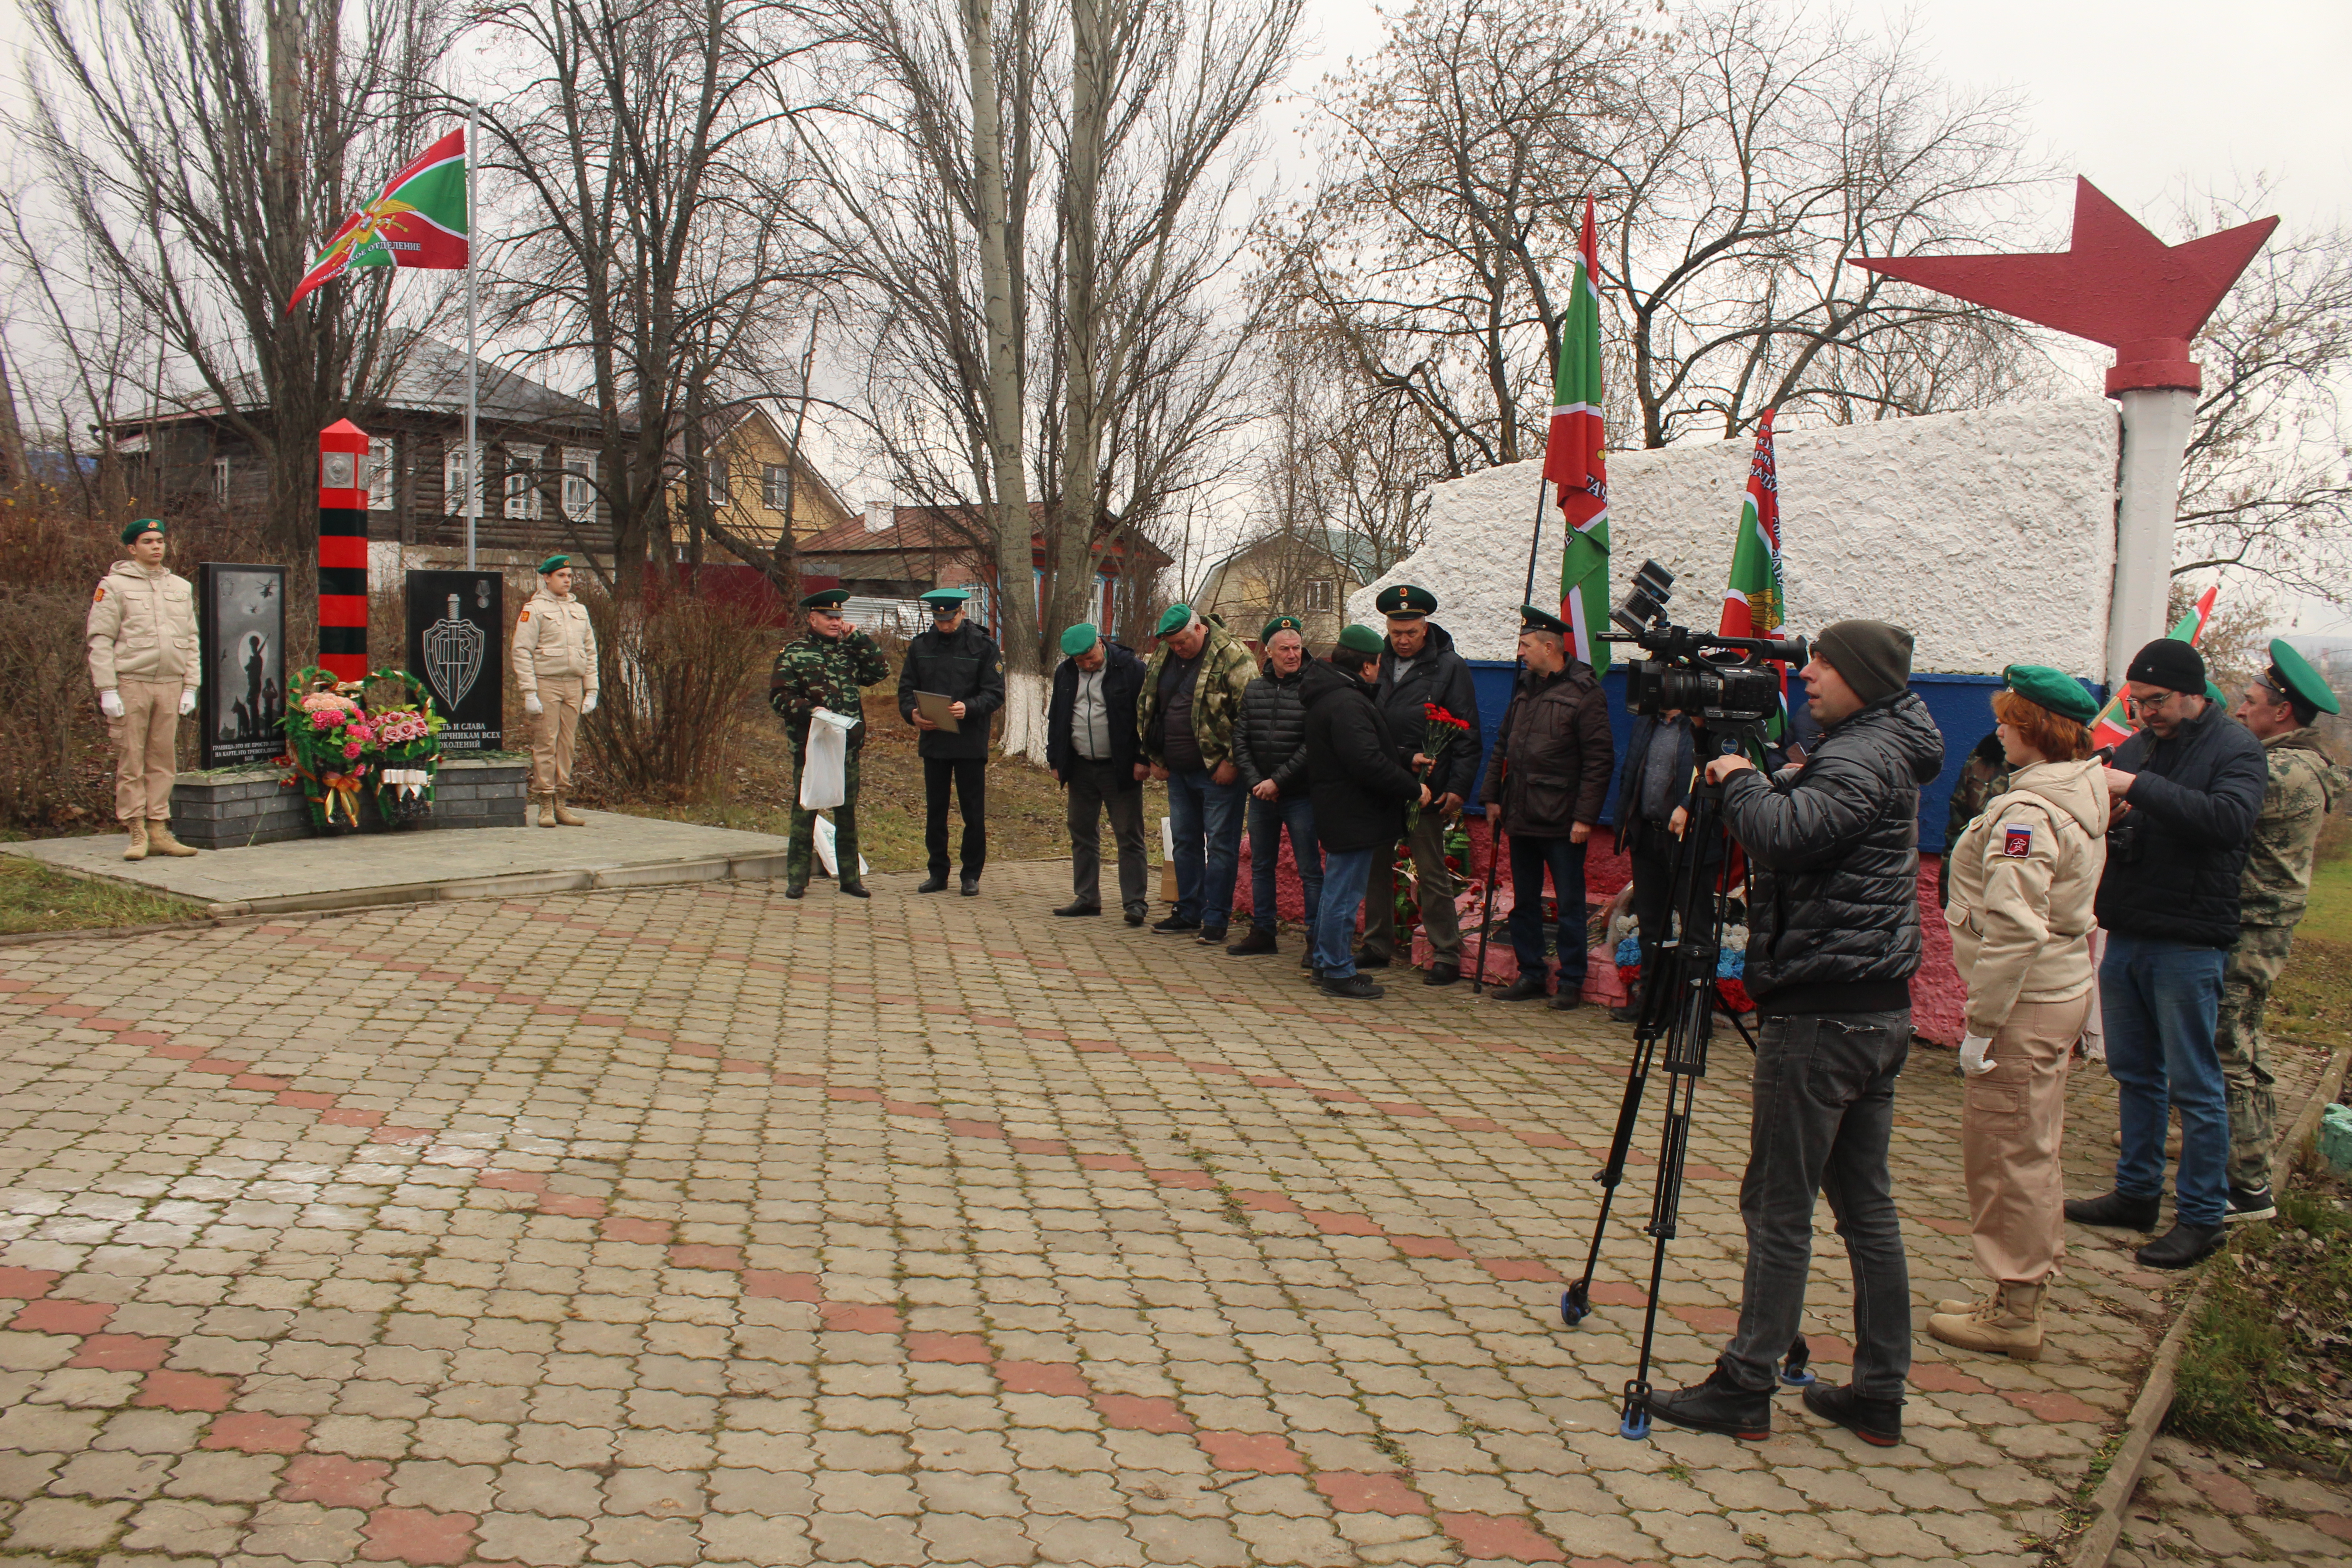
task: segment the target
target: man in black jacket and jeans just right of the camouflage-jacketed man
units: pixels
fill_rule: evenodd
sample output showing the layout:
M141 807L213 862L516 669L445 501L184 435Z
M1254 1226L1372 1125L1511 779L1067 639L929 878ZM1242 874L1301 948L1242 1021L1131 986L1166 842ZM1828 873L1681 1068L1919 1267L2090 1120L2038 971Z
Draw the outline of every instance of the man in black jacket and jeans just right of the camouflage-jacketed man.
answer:
M1308 797L1305 623L1275 616L1258 632L1265 670L1242 691L1242 719L1232 726L1232 762L1249 790L1249 931L1225 952L1242 957L1275 950L1275 860L1282 830L1291 832L1291 860L1305 896L1308 931L1322 903L1322 849L1315 844L1315 802ZM1308 945L1301 966L1312 966Z

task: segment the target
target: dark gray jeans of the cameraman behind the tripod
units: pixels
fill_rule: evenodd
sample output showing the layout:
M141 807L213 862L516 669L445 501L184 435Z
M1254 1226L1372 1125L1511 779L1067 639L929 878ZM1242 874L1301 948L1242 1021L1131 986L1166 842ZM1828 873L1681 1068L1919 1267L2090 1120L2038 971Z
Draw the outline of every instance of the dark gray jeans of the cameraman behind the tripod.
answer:
M1773 1387L1804 1321L1813 1199L1828 1194L1853 1267L1853 1387L1903 1399L1910 1373L1910 1265L1886 1175L1896 1077L1910 1056L1910 1009L1792 1013L1757 1032L1755 1107L1740 1218L1748 1274L1740 1328L1719 1366L1745 1389Z

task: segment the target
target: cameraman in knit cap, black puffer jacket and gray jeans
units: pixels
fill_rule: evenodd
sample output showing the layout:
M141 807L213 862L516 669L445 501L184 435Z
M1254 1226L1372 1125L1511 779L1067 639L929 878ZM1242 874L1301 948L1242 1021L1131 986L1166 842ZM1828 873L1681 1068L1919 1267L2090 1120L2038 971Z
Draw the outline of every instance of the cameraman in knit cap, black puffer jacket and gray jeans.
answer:
M1804 668L1823 738L1802 766L1764 778L1717 757L1724 825L1755 867L1748 992L1762 1030L1740 1218L1740 1326L1705 1382L1649 1410L1696 1432L1771 1436L1780 1354L1804 1316L1813 1201L1828 1187L1853 1265L1853 1382L1804 1403L1867 1443L1903 1439L1910 1267L1886 1171L1893 1086L1910 1051L1919 969L1919 785L1943 736L1910 693L1912 635L1839 621Z

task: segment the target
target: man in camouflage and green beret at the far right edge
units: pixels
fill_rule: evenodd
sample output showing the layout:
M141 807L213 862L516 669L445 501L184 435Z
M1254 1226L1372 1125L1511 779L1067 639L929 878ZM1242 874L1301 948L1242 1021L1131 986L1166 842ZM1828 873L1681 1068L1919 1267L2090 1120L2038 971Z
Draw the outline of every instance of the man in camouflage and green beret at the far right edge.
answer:
M2270 1150L2277 1105L2263 1053L2263 1009L2286 969L2312 891L2312 856L2328 811L2345 799L2352 776L2319 743L2319 715L2343 712L2336 691L2284 637L2270 644L2270 668L2246 686L2237 722L2263 743L2270 785L2253 820L2253 846L2239 877L2237 943L2220 980L2213 1048L2230 1095L2230 1211L2227 1225L2277 1213L2270 1192Z

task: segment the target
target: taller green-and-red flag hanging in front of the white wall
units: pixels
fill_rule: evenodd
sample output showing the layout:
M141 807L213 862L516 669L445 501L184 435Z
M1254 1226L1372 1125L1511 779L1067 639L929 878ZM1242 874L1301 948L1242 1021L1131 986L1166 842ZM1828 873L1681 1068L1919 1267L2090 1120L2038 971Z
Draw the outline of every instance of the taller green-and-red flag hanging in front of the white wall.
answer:
M1609 463L1602 430L1602 294L1595 280L1592 197L1576 247L1569 320L1559 329L1552 376L1552 428L1543 442L1543 477L1559 496L1569 536L1559 550L1559 618L1576 628L1576 658L1595 675L1609 672Z

